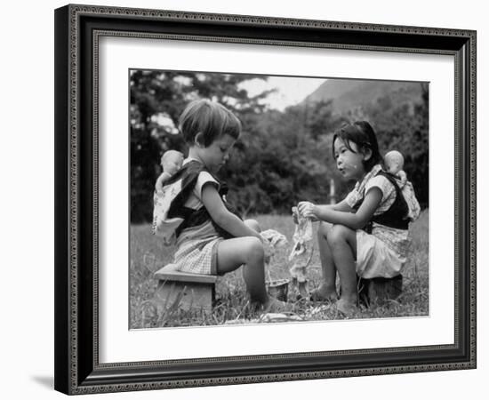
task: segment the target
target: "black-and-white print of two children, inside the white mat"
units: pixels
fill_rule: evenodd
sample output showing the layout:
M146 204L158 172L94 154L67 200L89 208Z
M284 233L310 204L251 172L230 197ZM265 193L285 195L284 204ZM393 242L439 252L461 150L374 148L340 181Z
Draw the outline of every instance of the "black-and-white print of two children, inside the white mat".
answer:
M429 82L128 86L130 329L429 316Z

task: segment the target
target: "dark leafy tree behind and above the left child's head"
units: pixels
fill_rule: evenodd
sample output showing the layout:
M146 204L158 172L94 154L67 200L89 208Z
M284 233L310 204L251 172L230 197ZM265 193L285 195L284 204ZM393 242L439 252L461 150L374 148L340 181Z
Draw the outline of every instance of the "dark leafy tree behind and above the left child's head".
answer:
M262 112L261 92L250 97L240 84L264 76L133 70L131 74L131 220L151 220L152 193L160 156L168 148L185 151L178 118L190 100L219 101L245 116Z

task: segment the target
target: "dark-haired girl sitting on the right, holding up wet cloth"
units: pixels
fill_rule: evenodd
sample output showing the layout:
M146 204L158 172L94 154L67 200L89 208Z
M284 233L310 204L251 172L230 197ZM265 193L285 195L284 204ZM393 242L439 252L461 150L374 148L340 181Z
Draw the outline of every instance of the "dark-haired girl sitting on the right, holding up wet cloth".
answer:
M333 156L345 180L357 184L339 204L298 204L302 215L320 220L317 240L323 283L316 300L336 300L336 274L341 282L337 307L357 308L357 276L394 277L405 265L408 206L396 180L382 171L382 157L372 126L359 121L333 136Z

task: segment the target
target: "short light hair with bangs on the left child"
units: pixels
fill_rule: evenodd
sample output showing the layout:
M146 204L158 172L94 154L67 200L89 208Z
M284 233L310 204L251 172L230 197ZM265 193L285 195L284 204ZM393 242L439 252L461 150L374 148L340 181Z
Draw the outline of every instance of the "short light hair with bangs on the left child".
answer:
M179 129L183 139L194 143L197 133L202 133L201 143L208 147L222 135L239 138L241 122L228 108L211 100L194 100L188 103L179 119Z

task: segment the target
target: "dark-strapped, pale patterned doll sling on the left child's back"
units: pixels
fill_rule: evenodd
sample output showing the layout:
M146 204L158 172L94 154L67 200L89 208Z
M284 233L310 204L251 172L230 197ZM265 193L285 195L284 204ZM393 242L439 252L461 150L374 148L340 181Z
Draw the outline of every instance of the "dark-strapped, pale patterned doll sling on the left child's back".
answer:
M225 239L233 237L212 220L204 206L199 209L185 206L188 197L191 196L196 187L200 172L211 173L198 161L190 161L172 178L164 182L161 192L155 192L153 234L162 237L164 244L173 244L183 229L202 225L208 220L212 221L213 227L220 236ZM212 177L216 179L213 175ZM225 184L220 184L218 192L228 211L239 217L236 210L225 201L224 196L228 193L228 187Z

